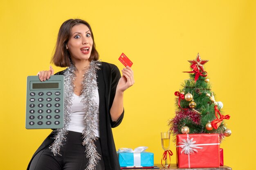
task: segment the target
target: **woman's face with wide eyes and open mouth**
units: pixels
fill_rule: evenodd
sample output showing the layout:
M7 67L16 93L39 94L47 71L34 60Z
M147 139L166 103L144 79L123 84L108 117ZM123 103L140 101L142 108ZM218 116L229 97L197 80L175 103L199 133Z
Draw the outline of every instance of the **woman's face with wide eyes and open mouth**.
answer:
M72 61L88 60L92 52L92 44L90 29L85 24L79 24L72 27L66 48L70 52Z

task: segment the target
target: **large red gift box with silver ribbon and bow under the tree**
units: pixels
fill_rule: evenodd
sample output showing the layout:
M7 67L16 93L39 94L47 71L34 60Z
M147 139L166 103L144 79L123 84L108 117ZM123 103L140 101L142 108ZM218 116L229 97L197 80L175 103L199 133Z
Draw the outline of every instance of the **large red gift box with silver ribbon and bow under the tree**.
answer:
M220 167L219 134L182 134L176 137L179 168Z

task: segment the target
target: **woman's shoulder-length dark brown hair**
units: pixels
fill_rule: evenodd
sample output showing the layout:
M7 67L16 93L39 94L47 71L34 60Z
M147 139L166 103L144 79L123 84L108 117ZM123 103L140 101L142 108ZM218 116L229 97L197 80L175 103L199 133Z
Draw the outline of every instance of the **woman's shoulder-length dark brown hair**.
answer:
M70 66L70 52L67 50L66 45L67 41L71 37L72 33L72 27L75 25L79 24L85 24L88 26L91 32L92 40L93 40L93 45L92 45L92 52L89 58L89 61L97 61L99 60L99 53L96 50L95 43L94 43L94 37L92 33L92 28L88 22L80 19L70 19L61 25L61 28L58 32L58 38L56 42L56 47L55 47L55 52L54 55L51 59L51 63L54 63L54 65L58 67L69 67Z

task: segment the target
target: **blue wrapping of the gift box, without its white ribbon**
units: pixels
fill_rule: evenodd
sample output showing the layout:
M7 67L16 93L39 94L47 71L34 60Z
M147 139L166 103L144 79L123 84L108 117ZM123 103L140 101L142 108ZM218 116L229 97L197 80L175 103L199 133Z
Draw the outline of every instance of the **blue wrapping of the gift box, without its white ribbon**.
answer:
M118 153L119 164L121 167L134 166L133 153ZM142 167L154 166L154 153L142 152L140 153L140 162Z

